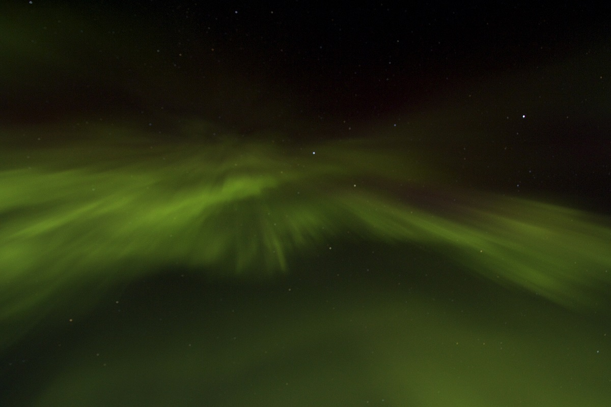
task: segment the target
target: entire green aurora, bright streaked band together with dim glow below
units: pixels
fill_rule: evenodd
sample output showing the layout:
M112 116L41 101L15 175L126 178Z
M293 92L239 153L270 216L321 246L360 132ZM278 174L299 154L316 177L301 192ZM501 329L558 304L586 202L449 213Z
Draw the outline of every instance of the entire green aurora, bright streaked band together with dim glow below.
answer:
M426 154L393 139L288 147L240 137L163 144L128 126L101 132L103 143L95 132L45 145L57 134L47 129L38 148L3 150L0 345L29 349L32 334L49 336L34 340L44 356L29 369L45 379L24 382L33 386L27 405L604 405L606 333L582 316L607 312L608 217L456 189ZM285 298L283 278L302 259L380 245L414 250L380 261L395 271L379 273L435 273L441 256L503 291L475 313L471 300L356 280L334 294L320 286ZM323 267L329 279L358 266ZM153 301L134 298L130 284L166 269L199 274L203 286L161 284L154 297L183 302L159 300L167 322L130 311ZM219 278L229 291L207 292ZM253 284L266 288L253 294ZM132 294L112 294L117 286ZM513 289L532 295L515 303ZM125 303L126 320L90 314L109 298ZM52 339L54 330L64 334ZM566 346L584 355L562 356ZM18 369L11 362L2 377ZM581 390L558 390L566 384Z

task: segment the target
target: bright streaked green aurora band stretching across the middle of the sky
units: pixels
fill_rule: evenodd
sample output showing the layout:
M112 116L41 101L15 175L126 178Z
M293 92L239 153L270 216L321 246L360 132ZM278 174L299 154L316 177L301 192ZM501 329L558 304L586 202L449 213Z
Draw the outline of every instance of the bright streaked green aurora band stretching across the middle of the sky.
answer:
M290 272L293 254L348 236L452 250L474 272L565 306L595 306L610 283L608 218L450 191L392 140L160 145L112 130L103 144L2 150L2 319L76 281L130 281L163 265ZM446 197L423 200L431 190Z

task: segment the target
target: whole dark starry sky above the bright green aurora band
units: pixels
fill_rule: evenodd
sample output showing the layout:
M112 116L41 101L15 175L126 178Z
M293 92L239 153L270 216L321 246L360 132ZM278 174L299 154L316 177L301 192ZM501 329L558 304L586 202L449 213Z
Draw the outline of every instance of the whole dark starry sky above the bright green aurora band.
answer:
M170 140L191 118L310 140L396 126L455 168L478 160L466 178L512 154L484 184L525 189L535 168L606 207L609 12L578 1L404 4L4 6L0 119L122 118Z

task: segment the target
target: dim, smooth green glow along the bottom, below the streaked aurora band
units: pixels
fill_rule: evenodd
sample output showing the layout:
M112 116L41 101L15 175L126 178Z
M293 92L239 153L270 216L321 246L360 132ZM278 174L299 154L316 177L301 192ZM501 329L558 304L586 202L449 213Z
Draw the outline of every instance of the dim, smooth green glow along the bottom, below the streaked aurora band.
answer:
M470 315L444 301L371 291L351 284L320 295L331 303L285 292L291 306L283 307L278 297L241 294L245 306L203 326L189 317L101 326L62 355L32 405L197 406L210 397L228 406L606 405L609 357L595 351L606 342L576 316L540 304L534 319L502 307ZM194 308L205 312L202 303ZM117 329L118 342L104 335Z

